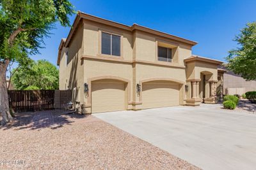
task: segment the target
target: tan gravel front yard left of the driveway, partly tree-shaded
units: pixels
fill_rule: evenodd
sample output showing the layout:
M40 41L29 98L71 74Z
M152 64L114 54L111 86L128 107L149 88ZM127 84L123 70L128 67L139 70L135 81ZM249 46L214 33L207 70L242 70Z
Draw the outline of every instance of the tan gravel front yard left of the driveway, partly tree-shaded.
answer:
M20 113L0 127L0 169L199 169L92 115Z

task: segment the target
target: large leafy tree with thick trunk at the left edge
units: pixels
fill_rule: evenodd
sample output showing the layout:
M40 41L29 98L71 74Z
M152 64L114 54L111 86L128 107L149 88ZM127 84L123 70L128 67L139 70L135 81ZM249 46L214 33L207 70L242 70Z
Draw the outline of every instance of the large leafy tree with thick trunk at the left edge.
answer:
M29 55L38 53L44 37L56 22L70 26L68 15L74 7L68 0L0 0L0 122L12 120L6 88L10 62L28 64Z

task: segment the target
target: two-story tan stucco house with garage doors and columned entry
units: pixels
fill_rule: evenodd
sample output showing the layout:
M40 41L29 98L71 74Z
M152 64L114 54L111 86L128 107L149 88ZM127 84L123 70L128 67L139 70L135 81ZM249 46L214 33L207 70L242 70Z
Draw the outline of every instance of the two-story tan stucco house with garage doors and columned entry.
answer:
M79 12L61 39L60 90L83 113L216 103L218 65L195 41Z

